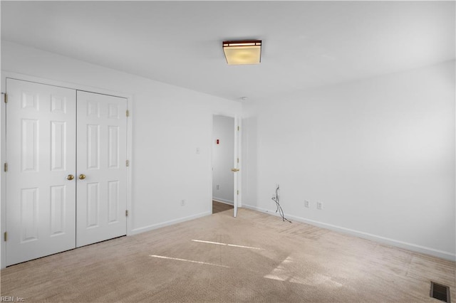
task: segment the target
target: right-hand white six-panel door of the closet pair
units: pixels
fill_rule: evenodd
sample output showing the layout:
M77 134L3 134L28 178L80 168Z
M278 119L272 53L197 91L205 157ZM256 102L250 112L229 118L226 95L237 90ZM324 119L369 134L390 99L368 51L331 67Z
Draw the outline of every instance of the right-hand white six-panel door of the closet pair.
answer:
M127 100L78 91L76 246L126 234Z

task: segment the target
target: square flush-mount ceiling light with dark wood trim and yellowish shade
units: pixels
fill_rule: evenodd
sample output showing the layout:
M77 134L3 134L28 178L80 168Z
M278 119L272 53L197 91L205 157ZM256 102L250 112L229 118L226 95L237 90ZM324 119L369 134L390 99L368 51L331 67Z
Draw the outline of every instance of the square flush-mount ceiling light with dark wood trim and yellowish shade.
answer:
M223 41L223 51L229 65L261 62L261 40Z

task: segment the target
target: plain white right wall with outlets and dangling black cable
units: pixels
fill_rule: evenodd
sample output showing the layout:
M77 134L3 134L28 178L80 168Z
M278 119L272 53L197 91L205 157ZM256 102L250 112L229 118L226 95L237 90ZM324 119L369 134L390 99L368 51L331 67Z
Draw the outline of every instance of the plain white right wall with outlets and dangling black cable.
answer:
M279 183L295 220L455 259L454 61L247 103L243 122L244 206L275 211Z

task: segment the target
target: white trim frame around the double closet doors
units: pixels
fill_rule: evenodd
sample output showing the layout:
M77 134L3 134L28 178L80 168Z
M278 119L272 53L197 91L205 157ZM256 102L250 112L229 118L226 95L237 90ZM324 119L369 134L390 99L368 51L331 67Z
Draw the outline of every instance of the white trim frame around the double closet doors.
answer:
M128 209L128 217L127 217L127 235L131 235L131 230L133 228L133 211L132 211L132 171L133 171L133 145L132 145L132 138L133 138L133 129L132 129L132 121L133 121L133 94L125 94L123 92L115 92L112 90L105 90L102 88L97 87L90 87L87 85L78 85L74 83L66 83L59 80L50 80L46 78L35 77L31 75L23 75L20 73L12 73L12 72L5 72L1 71L1 105L0 105L0 166L1 166L1 174L0 174L0 199L1 199L1 207L0 207L0 227L1 227L1 238L0 238L0 268L6 267L6 245L4 241L4 231L6 230L6 173L4 171L4 163L6 162L6 104L4 102L4 92L6 90L6 78L13 78L17 80L23 81L30 81L34 83L40 83L43 85L54 85L59 87L66 87L73 90L83 90L86 92L95 92L98 94L103 95L113 95L116 97L124 97L127 99L127 109L129 112L129 117L127 121L127 159L130 162L128 169L127 169L127 209Z

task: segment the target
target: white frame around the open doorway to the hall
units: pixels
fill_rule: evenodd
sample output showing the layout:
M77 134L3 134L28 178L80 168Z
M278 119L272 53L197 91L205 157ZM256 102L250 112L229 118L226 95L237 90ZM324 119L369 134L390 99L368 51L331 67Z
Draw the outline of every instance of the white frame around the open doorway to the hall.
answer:
M227 114L224 112L213 112L212 113L212 130L211 130L211 142L212 142L212 137L214 137L214 116L224 116L224 117L230 117L234 118L234 158L239 158L239 163L237 163L237 166L235 166L239 171L237 173L233 173L234 175L234 192L233 192L233 208L234 208L234 213L233 216L237 216L237 208L242 207L242 191L241 191L241 185L242 185L242 159L241 159L241 142L242 142L242 127L241 127L241 122L242 119L238 117L237 115L232 115L232 114ZM211 144L212 147L212 144ZM214 182L214 174L212 173L212 163L214 159L214 149L211 148L211 170L210 170L210 176L211 176L211 182L209 184L209 192L210 192L210 213L212 213L212 184ZM239 194L237 194L237 191L239 191Z

